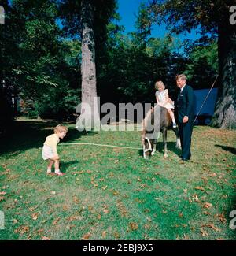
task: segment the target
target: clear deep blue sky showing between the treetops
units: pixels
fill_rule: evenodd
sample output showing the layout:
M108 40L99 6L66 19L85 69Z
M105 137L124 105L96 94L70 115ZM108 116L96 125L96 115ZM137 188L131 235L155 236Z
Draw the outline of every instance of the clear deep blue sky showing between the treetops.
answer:
M120 25L124 25L125 33L135 31L135 13L138 14L138 7L142 2L149 2L148 0L117 0L118 2L118 13L120 14L121 20ZM163 37L168 31L164 25L157 26L153 25L152 36ZM178 35L180 40L183 39L197 39L196 31L187 33L186 35Z

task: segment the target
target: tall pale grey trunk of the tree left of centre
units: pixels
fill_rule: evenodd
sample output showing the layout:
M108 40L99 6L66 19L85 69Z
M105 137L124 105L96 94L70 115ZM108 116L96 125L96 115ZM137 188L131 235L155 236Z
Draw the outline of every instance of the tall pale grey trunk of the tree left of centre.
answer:
M82 0L82 106L81 113L87 130L100 127L96 88L94 9L92 0ZM90 111L91 110L91 111ZM82 123L81 123L82 124Z

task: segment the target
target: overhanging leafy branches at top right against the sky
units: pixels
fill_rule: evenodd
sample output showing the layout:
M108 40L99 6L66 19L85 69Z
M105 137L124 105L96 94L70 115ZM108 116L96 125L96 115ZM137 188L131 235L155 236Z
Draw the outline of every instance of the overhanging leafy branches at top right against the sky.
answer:
M201 26L202 35L216 35L220 22L226 22L229 7L234 0L153 0L149 13L153 21L165 21L172 32L190 32Z

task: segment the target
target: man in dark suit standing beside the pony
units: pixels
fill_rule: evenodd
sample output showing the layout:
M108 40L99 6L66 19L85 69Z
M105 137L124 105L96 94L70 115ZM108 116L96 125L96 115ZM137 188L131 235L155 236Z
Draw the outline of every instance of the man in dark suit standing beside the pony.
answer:
M176 76L176 84L180 92L177 99L179 136L182 147L182 160L190 160L191 136L194 127L194 91L186 85L184 74Z

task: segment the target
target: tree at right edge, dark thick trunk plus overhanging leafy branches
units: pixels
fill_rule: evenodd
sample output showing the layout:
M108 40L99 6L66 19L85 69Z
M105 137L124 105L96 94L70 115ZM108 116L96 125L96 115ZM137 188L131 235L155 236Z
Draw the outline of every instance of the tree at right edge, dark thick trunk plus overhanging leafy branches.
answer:
M236 128L236 29L230 23L234 0L153 0L149 10L172 32L190 32L201 26L202 35L218 35L219 97L212 125Z

